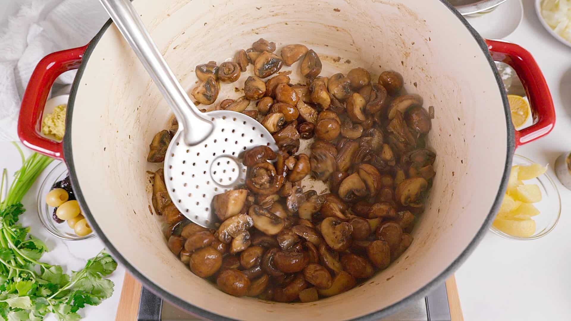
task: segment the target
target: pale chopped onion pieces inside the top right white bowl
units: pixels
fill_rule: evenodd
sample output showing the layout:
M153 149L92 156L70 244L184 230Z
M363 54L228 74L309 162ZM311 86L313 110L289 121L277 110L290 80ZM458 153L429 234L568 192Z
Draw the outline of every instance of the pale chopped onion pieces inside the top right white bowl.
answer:
M543 0L541 17L556 34L571 42L571 0Z

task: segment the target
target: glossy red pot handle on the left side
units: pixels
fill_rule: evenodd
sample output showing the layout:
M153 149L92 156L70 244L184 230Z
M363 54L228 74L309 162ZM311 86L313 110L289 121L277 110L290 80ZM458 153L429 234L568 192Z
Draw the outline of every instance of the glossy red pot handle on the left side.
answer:
M78 69L86 49L87 45L49 54L35 67L24 92L18 117L18 137L26 147L63 160L62 142L39 135L43 108L55 79L68 70Z

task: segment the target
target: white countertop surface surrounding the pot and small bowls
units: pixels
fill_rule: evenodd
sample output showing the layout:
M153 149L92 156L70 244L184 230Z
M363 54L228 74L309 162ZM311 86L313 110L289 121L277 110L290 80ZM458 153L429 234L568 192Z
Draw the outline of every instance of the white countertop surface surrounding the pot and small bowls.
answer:
M518 1L518 0L509 0ZM456 272L460 302L465 320L569 320L571 319L571 191L558 183L553 172L555 159L571 150L571 48L562 45L543 29L537 19L534 0L522 0L524 19L506 38L521 45L536 59L547 80L556 107L557 124L547 137L520 147L517 154L538 163L549 163L549 175L556 180L561 194L562 213L558 226L547 236L532 241L514 241L488 233L467 262ZM0 142L7 151L0 158L0 168L10 174L20 167L20 158L10 143ZM56 162L50 164L50 168ZM51 251L43 260L61 264L68 272L78 270L86 259L103 248L95 240L64 242L43 230L35 199L39 184L48 170L38 178L23 199L27 212L22 223L31 226L31 234L45 240ZM110 279L115 283L111 298L97 307L79 311L83 320L114 320L123 283L124 268L118 267ZM50 316L47 320L55 320Z

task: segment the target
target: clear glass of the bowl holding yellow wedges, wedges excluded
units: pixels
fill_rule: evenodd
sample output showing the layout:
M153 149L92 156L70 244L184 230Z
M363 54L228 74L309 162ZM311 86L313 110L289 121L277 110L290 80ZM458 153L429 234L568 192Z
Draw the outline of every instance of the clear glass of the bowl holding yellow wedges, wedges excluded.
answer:
M513 165L530 165L533 163L533 160L529 158L520 155L513 155ZM540 211L540 214L533 216L532 218L536 222L536 231L532 236L520 238L518 236L506 234L497 228L490 226L490 231L494 234L512 240L534 240L547 235L557 225L559 216L561 215L561 197L559 196L559 192L557 191L557 187L555 186L553 179L551 179L547 172L545 172L545 174L542 174L537 178L525 180L524 183L537 184L541 190L541 201L533 203L533 206Z

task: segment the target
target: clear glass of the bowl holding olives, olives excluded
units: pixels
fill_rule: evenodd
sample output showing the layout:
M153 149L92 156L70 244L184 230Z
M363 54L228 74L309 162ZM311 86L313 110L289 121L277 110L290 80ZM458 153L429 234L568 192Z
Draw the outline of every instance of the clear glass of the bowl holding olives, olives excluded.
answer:
M43 180L42 185L39 187L38 199L36 200L38 203L39 220L51 235L62 240L86 240L96 238L97 236L94 232L85 236L77 236L75 235L73 228L69 227L66 222L57 223L51 216L54 213L54 207L46 204L46 195L50 192L51 186L55 182L59 182L59 180L66 178L66 175L66 164L61 162L55 166L49 174L47 174L46 179Z

